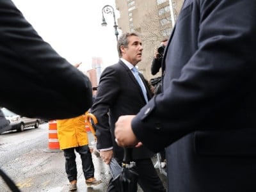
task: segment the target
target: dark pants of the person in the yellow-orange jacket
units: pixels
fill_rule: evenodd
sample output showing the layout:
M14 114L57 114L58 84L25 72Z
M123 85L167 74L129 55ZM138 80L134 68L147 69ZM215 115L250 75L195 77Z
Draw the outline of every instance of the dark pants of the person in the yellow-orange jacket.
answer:
M84 178L89 179L94 177L94 166L92 162L92 154L88 148L88 145L80 147L66 148L64 149L64 157L66 159L65 169L68 175L68 180L77 180L77 168L76 168L76 152L79 153L83 166Z

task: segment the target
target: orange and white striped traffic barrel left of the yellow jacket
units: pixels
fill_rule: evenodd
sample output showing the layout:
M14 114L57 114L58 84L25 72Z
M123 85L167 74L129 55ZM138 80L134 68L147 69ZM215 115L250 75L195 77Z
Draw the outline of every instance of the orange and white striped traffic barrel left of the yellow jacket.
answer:
M60 150L60 143L57 134L57 122L56 120L49 121L49 131L48 131L48 148L44 152L62 152Z

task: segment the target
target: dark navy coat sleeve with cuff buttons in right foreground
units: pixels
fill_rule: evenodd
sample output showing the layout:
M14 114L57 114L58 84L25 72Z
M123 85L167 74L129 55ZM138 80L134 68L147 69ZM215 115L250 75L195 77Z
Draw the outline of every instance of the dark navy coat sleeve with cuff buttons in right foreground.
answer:
M246 111L254 110L255 114L255 109L246 104L246 98L251 98L250 104L255 106L255 1L186 3L169 42L179 42L178 46L166 51L163 93L150 100L132 120L134 134L155 152L196 130L244 127L253 122L245 116ZM198 30L196 38L191 38L196 42L195 51L177 71L191 44L179 40L194 35L195 29L186 30L192 24ZM178 57L175 63L171 52ZM172 78L173 70L180 75ZM237 124L228 126L232 121Z

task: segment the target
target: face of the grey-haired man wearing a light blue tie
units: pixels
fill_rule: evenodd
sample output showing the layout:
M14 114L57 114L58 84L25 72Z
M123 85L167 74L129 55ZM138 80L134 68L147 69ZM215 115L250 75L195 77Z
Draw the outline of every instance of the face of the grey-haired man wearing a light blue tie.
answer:
M141 40L138 36L128 36L128 47L125 48L121 46L120 49L122 51L122 58L132 63L132 65L136 65L141 61L141 55L143 47L141 45Z

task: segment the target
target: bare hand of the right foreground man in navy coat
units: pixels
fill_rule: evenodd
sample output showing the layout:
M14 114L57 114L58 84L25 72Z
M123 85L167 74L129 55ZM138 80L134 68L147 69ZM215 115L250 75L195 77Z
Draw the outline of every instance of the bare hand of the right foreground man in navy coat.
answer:
M134 116L135 115L120 116L115 124L116 143L120 147L134 147L139 142L131 127Z

